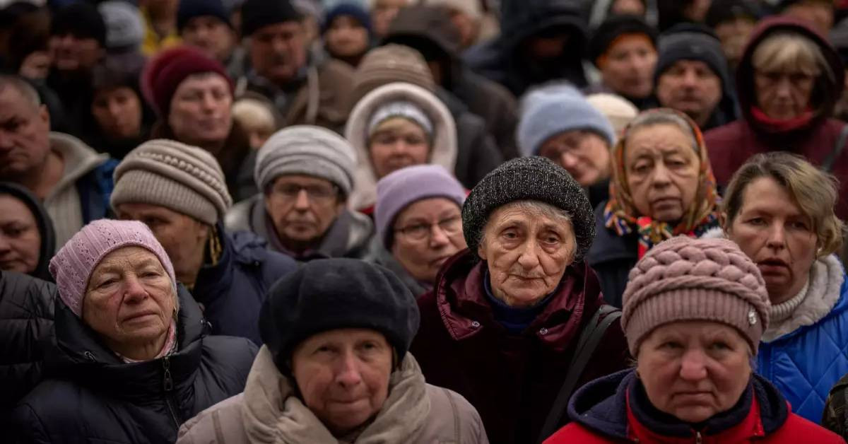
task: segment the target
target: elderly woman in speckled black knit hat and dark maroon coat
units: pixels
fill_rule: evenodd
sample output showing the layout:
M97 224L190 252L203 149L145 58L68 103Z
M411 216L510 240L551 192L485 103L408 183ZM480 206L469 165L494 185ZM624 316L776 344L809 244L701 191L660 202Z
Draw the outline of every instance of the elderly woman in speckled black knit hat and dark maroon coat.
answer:
M537 441L572 368L584 331L600 345L585 356L586 382L627 365L600 284L583 262L594 215L583 188L542 157L510 160L471 190L462 207L469 250L442 266L418 300L412 352L432 384L465 396L493 442ZM445 365L450 363L450 365ZM576 372L576 370L575 370ZM577 385L579 386L579 385Z

